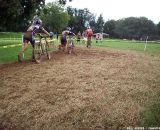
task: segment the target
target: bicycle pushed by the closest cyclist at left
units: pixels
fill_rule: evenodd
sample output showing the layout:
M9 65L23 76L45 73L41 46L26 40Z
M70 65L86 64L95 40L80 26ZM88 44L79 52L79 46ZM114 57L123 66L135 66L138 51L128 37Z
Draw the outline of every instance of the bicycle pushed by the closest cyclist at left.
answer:
M45 34L38 33L39 41L35 42L35 50L34 50L34 57L35 61L37 63L41 62L42 55L47 55L47 58L50 60L50 53L49 53L49 42L47 41L47 38L49 36L46 36Z

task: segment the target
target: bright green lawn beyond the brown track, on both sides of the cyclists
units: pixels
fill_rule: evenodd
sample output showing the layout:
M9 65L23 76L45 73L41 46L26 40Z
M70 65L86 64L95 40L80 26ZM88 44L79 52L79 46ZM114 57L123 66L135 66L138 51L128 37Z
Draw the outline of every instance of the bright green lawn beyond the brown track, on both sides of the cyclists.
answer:
M14 62L17 60L17 54L21 49L21 46L3 48L3 46L8 45L18 45L22 43L22 33L3 33L0 32L0 64ZM75 41L76 43L76 41ZM134 42L127 40L114 40L114 39L104 39L101 43L96 43L93 38L93 46L101 46L107 48L114 48L119 50L132 50L138 51L151 55L160 55L160 44L150 43L147 44L147 49L144 52L145 42ZM31 55L31 48L25 53L25 56Z

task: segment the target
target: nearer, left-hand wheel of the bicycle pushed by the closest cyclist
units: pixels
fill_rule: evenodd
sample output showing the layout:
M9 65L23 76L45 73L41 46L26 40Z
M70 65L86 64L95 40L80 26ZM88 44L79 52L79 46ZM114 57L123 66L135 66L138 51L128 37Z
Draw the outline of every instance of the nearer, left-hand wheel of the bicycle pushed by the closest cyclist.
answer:
M42 48L41 48L41 43L39 42L35 44L35 53L34 53L34 57L37 63L40 62L41 55L42 55Z

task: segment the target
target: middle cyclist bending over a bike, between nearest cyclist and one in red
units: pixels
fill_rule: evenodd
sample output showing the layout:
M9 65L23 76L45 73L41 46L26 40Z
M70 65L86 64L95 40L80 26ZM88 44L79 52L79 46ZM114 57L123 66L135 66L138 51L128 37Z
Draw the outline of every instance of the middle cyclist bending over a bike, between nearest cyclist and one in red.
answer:
M59 46L59 50L61 50L62 48L63 51L65 51L67 45L67 36L69 35L75 35L75 34L71 32L70 27L67 27L61 34L61 45Z

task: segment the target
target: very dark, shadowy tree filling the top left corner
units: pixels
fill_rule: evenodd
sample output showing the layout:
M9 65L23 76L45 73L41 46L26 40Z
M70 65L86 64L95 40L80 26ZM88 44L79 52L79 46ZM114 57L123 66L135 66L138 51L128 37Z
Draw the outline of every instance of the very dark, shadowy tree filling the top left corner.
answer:
M45 0L0 0L0 31L21 30Z

